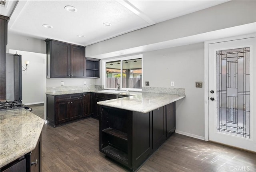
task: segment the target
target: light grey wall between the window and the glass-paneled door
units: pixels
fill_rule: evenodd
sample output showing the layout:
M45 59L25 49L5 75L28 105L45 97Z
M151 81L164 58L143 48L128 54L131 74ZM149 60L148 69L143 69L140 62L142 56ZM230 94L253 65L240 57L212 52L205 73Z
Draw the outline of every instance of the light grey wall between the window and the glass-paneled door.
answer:
M185 88L186 97L176 102L176 132L204 138L204 43L143 53L143 80L150 87ZM193 134L193 135L191 135Z

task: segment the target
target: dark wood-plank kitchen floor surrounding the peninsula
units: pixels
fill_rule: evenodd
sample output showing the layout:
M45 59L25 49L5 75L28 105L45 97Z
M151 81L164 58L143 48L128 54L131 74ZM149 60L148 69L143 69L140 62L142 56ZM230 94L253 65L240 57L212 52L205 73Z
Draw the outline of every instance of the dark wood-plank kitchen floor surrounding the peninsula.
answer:
M43 172L126 172L99 151L99 121L42 130ZM256 171L256 154L174 134L138 172Z

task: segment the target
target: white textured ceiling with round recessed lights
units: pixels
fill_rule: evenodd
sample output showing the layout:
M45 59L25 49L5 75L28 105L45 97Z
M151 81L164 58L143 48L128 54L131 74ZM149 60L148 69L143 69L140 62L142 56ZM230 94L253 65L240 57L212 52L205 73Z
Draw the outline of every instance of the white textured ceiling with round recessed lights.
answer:
M91 45L223 2L226 0L18 1L8 28L9 32L35 38ZM64 7L67 5L76 7L78 11L66 11ZM103 26L105 22L112 26ZM53 28L44 28L43 24ZM78 38L77 35L85 37Z

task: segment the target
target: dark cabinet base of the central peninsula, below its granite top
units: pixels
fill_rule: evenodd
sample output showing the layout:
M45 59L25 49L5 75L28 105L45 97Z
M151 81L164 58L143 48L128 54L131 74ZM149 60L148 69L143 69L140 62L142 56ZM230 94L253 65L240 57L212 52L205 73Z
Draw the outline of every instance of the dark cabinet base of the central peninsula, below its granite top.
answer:
M131 171L137 170L168 139L167 125L175 132L175 126L172 125L175 125L175 121L166 121L167 116L168 119L175 119L175 111L169 111L171 107L175 108L173 105L166 105L149 113L99 107L102 112L100 152Z

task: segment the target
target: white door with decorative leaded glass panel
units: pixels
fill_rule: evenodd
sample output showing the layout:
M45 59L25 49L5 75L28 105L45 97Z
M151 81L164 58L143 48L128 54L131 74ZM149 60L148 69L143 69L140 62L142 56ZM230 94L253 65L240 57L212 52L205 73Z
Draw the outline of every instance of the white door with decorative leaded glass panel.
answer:
M255 38L209 44L209 140L256 151Z

